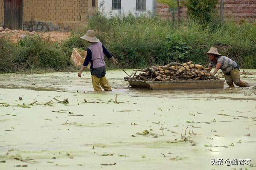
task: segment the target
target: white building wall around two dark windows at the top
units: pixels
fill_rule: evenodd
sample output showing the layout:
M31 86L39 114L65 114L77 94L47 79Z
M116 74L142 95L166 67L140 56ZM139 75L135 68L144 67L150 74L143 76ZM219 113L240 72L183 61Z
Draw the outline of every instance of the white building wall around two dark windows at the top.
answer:
M100 4L102 4L102 1L104 1L103 6L101 7ZM98 1L98 7L100 11L104 11L104 14L107 14L109 17L114 16L116 14L128 14L132 13L134 15L140 15L143 13L154 13L154 3L155 0L146 0L146 11L136 11L136 0L122 0L121 1L121 10L112 10L112 0L99 0Z

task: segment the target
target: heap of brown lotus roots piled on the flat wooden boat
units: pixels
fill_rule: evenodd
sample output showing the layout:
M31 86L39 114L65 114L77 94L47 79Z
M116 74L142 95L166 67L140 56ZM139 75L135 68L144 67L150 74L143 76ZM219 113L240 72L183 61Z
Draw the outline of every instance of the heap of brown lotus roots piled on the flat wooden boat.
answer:
M193 64L192 61L183 64L171 62L165 66L152 66L142 70L136 71L126 80L143 80L143 81L171 81L171 80L210 80L218 79L208 73L204 66ZM136 75L137 71L142 71Z

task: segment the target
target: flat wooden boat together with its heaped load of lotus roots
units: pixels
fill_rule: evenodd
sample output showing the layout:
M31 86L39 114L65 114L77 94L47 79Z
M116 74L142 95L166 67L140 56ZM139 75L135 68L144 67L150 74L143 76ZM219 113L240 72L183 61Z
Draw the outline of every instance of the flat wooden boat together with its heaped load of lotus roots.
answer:
M152 66L134 70L125 77L132 88L150 89L214 89L223 88L224 81L212 76L202 65L192 61L180 64L171 62L164 66ZM137 71L142 73L137 75Z

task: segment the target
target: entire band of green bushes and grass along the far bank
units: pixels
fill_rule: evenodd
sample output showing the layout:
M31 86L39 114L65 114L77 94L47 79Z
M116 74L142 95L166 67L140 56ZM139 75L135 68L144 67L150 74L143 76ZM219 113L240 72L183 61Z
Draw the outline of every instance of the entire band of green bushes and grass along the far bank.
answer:
M86 50L89 46L80 39L87 29L96 31L96 36L123 68L190 60L206 65L205 52L212 46L238 62L241 68L256 68L256 23L201 25L192 20L176 23L149 15L107 18L98 13L90 18L87 28L59 43L39 36L25 37L15 44L1 39L0 72L73 71L70 56L73 48ZM108 68L115 67L108 63Z

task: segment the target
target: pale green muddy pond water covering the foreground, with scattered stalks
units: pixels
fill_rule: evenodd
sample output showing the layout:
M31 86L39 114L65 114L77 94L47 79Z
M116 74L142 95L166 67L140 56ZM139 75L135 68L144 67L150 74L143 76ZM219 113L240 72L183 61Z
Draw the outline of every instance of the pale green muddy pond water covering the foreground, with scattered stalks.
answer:
M88 72L0 75L0 169L256 169L255 75L244 78L250 88L201 91L129 89L122 71L107 77L113 92L96 93Z

